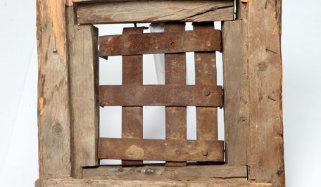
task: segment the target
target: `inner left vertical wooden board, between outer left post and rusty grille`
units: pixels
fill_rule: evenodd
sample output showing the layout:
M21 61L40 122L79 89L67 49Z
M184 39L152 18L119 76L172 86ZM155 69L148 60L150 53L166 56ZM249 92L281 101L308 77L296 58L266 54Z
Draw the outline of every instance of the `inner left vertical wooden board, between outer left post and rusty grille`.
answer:
M75 25L73 7L67 10L73 176L81 178L82 167L98 165L98 29Z

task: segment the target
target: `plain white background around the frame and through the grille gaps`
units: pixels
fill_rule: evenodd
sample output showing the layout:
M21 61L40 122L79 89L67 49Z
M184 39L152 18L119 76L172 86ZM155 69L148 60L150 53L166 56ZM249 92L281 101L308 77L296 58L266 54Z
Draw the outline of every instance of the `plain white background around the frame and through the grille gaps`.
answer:
M287 186L320 186L321 176L321 1L283 0L282 56L284 67L284 154ZM37 44L35 0L0 0L0 183L1 186L34 186L37 164ZM101 27L101 32L106 28ZM113 30L113 32L120 32ZM192 59L191 54L188 60ZM153 60L151 57L146 57ZM117 61L117 59L116 59ZM106 65L108 71L111 63ZM120 66L115 63L115 70ZM153 67L146 75L156 83ZM191 69L189 71L192 72ZM115 71L117 72L117 71ZM151 75L149 75L151 73ZM117 73L116 73L117 74ZM189 74L189 77L193 75ZM108 72L101 75L108 84ZM113 84L120 84L119 76ZM190 80L192 83L192 79ZM147 84L149 84L147 82ZM101 114L108 115L106 108ZM115 110L119 109L114 109ZM161 117L162 108L146 110ZM193 113L193 109L189 109ZM114 115L113 122L120 124ZM145 119L145 137L163 137L163 124ZM189 122L193 123L193 117ZM111 121L102 120L107 128ZM193 131L191 125L190 131ZM118 136L115 128L113 134ZM159 128L159 129L153 129ZM103 129L102 129L103 131ZM220 129L222 131L222 129ZM220 132L220 134L222 134ZM194 138L193 133L189 138ZM220 136L222 138L222 135Z

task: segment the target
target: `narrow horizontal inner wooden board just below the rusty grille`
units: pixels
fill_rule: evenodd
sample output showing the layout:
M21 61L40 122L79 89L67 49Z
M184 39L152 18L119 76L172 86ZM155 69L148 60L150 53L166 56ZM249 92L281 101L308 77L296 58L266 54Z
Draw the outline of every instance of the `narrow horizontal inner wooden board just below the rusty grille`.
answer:
M162 165L145 165L144 167L101 166L84 169L82 173L84 179L155 181L247 180L246 166L232 167L227 165L189 165L188 167L163 167Z

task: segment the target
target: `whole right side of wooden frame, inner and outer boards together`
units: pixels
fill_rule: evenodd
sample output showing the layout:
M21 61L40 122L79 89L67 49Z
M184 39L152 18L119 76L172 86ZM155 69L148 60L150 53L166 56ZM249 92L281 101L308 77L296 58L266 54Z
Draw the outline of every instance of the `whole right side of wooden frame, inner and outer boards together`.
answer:
M227 163L284 186L281 0L237 1L237 10L223 24Z

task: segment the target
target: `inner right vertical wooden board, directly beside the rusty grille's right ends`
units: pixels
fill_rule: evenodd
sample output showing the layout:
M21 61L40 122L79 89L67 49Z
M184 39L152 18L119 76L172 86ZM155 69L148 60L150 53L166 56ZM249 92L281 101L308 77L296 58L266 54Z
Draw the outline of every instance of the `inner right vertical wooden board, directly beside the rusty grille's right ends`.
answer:
M237 3L237 20L222 23L225 159L247 165L249 153L249 84L247 4Z

